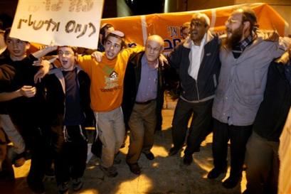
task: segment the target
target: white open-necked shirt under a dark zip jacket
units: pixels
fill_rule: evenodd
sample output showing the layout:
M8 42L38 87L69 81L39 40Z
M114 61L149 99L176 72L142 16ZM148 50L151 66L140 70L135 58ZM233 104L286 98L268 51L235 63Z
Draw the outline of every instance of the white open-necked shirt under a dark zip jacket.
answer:
M189 65L188 74L197 80L198 72L201 64L201 55L203 52L204 44L206 41L206 34L204 34L201 44L195 45L193 41L191 41L191 52L189 58L191 58L191 64Z

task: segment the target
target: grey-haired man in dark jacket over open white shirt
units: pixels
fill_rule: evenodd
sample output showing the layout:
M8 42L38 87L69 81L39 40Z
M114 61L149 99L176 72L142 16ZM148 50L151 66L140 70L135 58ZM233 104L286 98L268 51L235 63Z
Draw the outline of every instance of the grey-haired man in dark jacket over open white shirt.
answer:
M169 64L180 77L181 95L172 122L174 156L183 147L189 119L193 114L189 136L184 151L184 164L190 165L193 153L200 151L200 144L211 132L211 107L216 90L220 41L208 30L210 20L206 14L194 14L191 19L190 37L169 55Z

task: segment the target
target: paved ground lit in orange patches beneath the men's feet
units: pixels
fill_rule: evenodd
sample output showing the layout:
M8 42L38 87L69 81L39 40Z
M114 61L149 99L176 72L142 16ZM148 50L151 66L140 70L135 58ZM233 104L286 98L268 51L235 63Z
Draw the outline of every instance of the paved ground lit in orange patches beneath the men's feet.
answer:
M201 151L194 154L194 163L191 166L184 166L183 152L176 156L167 156L167 151L171 147L171 119L175 104L174 102L168 102L166 105L167 109L163 110L163 129L155 134L155 144L152 149L156 158L153 161L148 161L142 154L139 160L139 165L142 166L142 174L140 176L134 175L125 163L125 154L129 144L129 139L127 139L126 146L121 149L119 155L122 162L116 165L119 175L115 178L106 177L99 168L98 159L92 156L85 171L85 185L79 193L230 194L241 193L241 190L245 190L244 174L241 185L233 189L222 187L221 180L224 177L220 177L218 180L208 180L206 178L207 172L212 168L213 161L211 156L212 134L203 141ZM26 164L21 168L15 168L16 193L30 193L26 185L29 164L30 161L26 161ZM46 180L45 185L47 194L57 193L55 180ZM70 192L73 193L73 190Z

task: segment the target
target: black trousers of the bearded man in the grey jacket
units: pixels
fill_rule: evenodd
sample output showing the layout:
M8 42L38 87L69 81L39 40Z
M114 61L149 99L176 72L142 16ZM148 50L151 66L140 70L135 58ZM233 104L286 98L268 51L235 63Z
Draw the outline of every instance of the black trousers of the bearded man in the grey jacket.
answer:
M213 122L213 164L215 168L227 166L228 140L231 140L231 178L241 176L245 161L245 145L252 133L253 125L234 126L214 119Z

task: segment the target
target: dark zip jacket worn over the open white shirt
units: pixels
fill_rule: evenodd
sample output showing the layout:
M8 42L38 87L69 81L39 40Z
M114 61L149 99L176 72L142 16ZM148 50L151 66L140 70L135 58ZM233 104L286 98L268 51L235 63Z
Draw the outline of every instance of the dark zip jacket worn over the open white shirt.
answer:
M207 33L203 58L199 68L197 81L188 73L191 51L190 40L178 45L169 55L169 64L179 73L181 97L189 102L199 102L212 99L221 69L219 60L220 41L218 36Z

